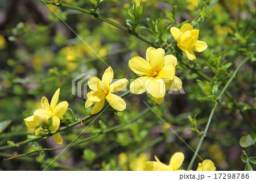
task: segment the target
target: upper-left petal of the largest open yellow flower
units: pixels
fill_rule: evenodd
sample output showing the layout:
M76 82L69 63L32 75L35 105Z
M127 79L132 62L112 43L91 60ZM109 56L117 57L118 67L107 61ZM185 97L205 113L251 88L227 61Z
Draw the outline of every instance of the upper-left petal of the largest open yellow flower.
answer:
M133 57L129 60L129 68L138 75L151 75L151 67L150 64L142 57Z

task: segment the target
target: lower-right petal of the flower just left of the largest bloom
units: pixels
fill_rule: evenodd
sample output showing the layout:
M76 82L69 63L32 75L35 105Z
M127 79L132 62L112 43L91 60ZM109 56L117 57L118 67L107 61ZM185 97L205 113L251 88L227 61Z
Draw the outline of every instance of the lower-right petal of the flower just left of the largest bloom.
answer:
M106 100L108 100L108 103L110 104L110 106L117 111L123 111L126 109L126 103L125 100L123 100L122 98L120 98L117 95L114 94L108 94L106 96Z

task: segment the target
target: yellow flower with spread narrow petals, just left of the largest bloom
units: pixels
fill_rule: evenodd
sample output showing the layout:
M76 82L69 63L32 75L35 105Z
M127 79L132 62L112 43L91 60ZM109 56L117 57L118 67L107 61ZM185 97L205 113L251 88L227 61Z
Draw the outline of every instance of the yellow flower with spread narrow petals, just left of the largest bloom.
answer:
M118 92L125 89L129 82L126 78L122 78L110 84L113 77L114 71L110 66L102 75L102 81L96 76L89 78L88 85L92 91L87 93L88 99L85 102L85 108L95 104L90 111L92 115L102 110L105 99L114 110L123 111L126 109L125 101L119 96L112 94L112 92Z

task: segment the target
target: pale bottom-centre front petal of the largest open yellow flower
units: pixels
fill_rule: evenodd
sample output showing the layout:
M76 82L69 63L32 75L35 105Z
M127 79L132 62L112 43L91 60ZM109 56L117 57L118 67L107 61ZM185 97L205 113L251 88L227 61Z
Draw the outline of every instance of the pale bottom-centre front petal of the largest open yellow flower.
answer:
M162 98L166 93L166 86L163 79L160 78L147 79L145 89L155 98Z

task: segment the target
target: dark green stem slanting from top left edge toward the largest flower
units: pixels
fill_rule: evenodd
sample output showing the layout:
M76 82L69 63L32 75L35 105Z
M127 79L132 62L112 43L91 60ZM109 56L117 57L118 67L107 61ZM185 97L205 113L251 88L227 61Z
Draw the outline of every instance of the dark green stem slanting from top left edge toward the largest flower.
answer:
M135 31L129 30L127 27L122 26L121 24L115 23L112 20L109 20L108 18L105 18L104 16L101 16L101 15L97 14L97 12L85 10L85 9L82 9L81 7L68 5L68 4L65 4L65 3L60 3L59 5L56 5L52 1L46 1L46 0L36 0L36 1L44 2L44 3L47 3L49 5L54 5L54 6L67 7L69 9L73 9L73 10L77 10L77 11L80 11L80 12L84 12L85 14L89 14L89 15L94 16L95 18L98 18L98 19L100 19L100 20L102 20L102 21L104 21L106 23L109 23L109 24L111 24L111 25L113 25L113 26L115 26L117 28L120 28L120 29L130 33L131 35L134 35L134 36L138 37L142 41L152 45L153 47L158 48L157 44L153 43L151 40L148 40L146 37L142 36L141 34L135 32Z

